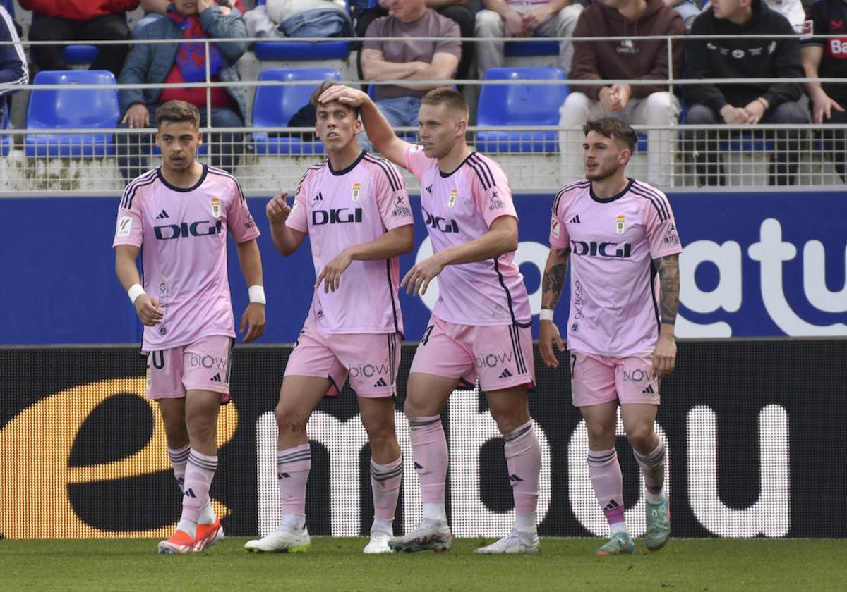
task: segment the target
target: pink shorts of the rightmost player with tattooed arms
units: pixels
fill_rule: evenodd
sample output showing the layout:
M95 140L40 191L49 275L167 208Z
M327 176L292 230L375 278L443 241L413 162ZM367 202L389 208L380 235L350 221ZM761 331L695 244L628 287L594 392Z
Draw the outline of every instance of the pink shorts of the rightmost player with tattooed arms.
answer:
M611 401L659 404L659 380L651 354L623 358L570 350L571 392L575 407Z

